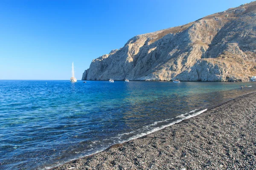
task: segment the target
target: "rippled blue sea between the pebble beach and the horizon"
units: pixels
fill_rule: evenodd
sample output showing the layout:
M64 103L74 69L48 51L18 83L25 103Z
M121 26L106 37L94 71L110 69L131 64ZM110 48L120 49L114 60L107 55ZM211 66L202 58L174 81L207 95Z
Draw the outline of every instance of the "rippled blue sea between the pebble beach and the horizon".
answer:
M253 91L255 82L1 80L0 169L47 169Z

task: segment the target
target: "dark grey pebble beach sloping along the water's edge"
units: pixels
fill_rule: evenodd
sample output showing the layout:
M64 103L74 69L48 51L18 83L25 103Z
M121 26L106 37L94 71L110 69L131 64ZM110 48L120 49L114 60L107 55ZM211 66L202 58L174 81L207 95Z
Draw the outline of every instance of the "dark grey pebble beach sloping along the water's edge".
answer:
M50 170L253 169L256 168L255 122L256 92L253 92Z

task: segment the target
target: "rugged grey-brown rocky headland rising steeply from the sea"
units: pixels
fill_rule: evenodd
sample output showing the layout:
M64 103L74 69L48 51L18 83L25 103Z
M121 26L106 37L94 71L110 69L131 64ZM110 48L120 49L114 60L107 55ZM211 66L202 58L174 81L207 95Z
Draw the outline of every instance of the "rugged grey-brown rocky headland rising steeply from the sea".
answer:
M249 81L256 76L256 1L137 35L93 59L83 80Z

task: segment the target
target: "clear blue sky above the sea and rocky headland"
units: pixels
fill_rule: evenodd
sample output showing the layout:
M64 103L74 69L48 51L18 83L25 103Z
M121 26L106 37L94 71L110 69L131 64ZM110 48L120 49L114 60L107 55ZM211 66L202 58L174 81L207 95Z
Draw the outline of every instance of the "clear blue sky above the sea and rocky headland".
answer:
M251 0L0 0L0 79L81 79L93 59L138 34Z

